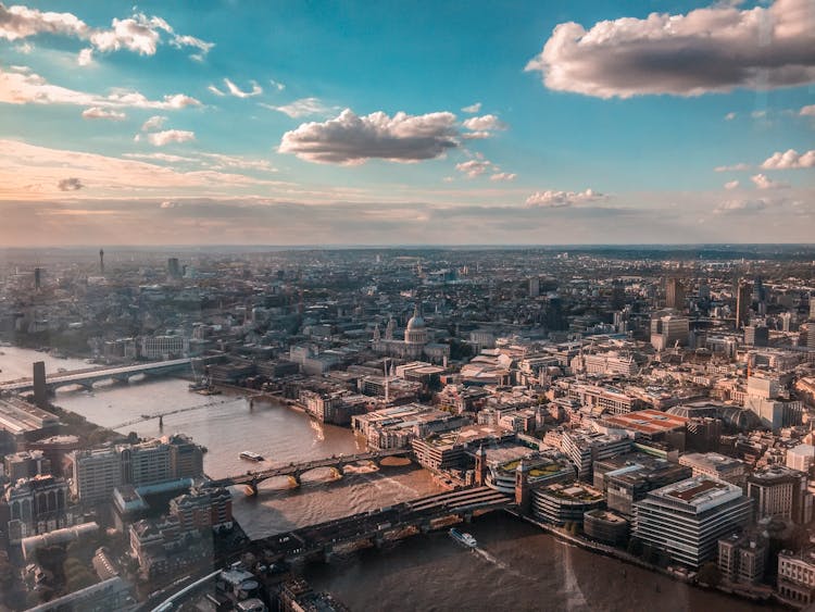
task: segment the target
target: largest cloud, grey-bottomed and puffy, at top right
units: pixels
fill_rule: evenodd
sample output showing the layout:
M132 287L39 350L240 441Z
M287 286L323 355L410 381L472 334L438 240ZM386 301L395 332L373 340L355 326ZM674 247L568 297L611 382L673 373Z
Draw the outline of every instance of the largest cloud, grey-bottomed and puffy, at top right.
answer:
M599 98L805 85L815 83L815 11L812 0L776 0L623 17L588 30L562 23L526 70L550 89Z

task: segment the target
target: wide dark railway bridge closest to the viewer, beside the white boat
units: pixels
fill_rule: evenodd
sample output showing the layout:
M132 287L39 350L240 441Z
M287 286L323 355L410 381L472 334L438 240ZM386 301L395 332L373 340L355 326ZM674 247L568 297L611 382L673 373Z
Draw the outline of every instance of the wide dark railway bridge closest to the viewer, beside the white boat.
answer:
M252 548L271 561L327 559L344 550L381 546L410 535L438 528L440 522L469 521L475 513L510 508L514 499L489 487L471 487L419 498L301 527L252 541Z

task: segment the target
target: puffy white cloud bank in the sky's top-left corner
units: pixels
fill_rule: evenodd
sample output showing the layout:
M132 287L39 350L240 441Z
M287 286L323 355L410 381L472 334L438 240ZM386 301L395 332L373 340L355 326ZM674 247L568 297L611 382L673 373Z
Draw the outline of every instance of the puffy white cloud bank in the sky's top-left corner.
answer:
M127 49L140 55L153 55L162 41L162 33L177 49L198 49L199 59L214 46L195 36L179 35L165 20L143 13L135 13L123 20L114 18L110 28L93 28L72 13L42 12L21 5L7 8L0 3L0 38L7 40L52 34L88 41L98 51ZM86 59L89 61L90 55L86 55ZM82 64L82 54L79 60Z

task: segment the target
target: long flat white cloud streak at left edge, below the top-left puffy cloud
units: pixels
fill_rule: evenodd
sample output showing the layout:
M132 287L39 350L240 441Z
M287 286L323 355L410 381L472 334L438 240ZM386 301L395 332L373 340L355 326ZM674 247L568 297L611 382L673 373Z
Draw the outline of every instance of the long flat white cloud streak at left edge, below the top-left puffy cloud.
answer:
M27 71L28 68L26 68ZM8 104L77 104L82 107L139 109L183 109L201 102L184 93L164 96L163 100L149 100L138 91L113 89L108 96L76 91L51 85L32 72L5 72L0 67L0 102Z

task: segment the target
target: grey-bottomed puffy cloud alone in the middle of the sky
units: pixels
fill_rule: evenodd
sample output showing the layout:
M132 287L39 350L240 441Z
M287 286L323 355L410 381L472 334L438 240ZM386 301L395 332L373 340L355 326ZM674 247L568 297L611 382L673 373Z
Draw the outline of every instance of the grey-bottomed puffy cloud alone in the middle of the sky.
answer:
M287 132L278 151L318 163L361 164L374 158L416 162L456 148L456 136L455 115L449 112L391 117L383 112L358 116L346 109L336 118Z

